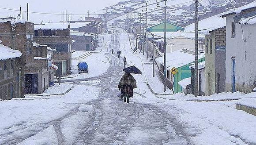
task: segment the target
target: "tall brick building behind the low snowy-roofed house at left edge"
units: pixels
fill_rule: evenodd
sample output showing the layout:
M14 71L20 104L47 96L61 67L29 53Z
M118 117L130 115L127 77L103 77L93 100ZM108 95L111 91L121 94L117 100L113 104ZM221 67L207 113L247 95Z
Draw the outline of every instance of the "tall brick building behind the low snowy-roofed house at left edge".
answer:
M2 44L22 52L17 59L17 78L19 78L18 96L24 97L26 65L33 63L30 59L33 48L34 23L25 20L0 20L0 40ZM33 66L33 65L32 65Z

